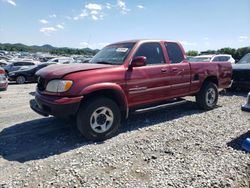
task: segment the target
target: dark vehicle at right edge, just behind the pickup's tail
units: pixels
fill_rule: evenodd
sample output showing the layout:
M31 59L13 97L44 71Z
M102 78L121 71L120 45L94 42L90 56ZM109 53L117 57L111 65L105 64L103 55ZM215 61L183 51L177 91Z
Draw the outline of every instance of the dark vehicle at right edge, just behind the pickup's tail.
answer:
M232 88L250 89L250 53L233 65Z

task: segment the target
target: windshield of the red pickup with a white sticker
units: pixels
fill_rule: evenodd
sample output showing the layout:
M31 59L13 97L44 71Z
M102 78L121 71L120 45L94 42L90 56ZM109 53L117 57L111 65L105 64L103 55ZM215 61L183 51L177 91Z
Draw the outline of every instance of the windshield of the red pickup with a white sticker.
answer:
M112 44L103 48L90 63L122 65L135 43Z

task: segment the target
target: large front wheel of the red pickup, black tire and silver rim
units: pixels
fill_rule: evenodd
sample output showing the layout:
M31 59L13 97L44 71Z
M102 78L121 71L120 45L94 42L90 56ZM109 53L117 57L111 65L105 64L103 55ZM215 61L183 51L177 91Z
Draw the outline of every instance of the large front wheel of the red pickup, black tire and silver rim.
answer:
M101 113L104 111L106 112ZM109 121L107 117L113 118ZM105 122L103 123L103 121ZM81 134L88 140L92 141L103 141L115 136L120 127L120 122L121 112L119 107L113 100L105 97L91 99L88 102L83 103L77 113L76 120L77 128ZM97 127L93 128L93 126L96 125ZM109 128L102 132L103 128L101 125L104 125L105 128Z

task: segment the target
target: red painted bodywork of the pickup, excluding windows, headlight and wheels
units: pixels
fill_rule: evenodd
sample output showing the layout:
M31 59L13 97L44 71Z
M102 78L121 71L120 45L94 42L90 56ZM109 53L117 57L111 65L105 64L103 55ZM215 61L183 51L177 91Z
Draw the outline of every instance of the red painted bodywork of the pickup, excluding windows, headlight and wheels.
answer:
M130 41L126 41L130 42ZM219 88L231 83L232 66L227 62L188 62L170 64L164 40L137 40L124 60L123 65L81 64L55 65L41 69L38 76L46 79L72 80L73 86L64 93L37 91L37 97L53 102L53 97L82 97L92 92L112 90L124 101L126 109L160 102L175 97L194 95L199 92L204 80L213 77L218 80ZM158 42L161 45L165 64L129 68L141 44ZM183 47L177 43L186 57ZM51 98L51 99L50 99ZM78 98L80 99L80 98ZM80 100L84 100L80 99ZM79 102L80 102L79 100ZM65 102L62 99L62 103Z

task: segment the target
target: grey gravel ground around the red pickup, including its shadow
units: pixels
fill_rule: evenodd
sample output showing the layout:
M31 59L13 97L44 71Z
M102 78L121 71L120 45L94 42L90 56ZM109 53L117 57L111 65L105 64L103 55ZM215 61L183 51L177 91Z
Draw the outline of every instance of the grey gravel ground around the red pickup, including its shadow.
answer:
M201 111L192 98L131 116L120 134L87 142L70 122L32 112L35 84L0 92L0 187L250 187L247 93Z

